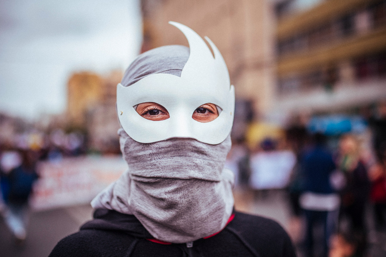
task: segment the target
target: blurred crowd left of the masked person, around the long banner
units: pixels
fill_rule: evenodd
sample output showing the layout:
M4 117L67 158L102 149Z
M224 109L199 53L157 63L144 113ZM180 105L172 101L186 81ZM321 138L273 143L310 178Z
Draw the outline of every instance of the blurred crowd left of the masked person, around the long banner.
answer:
M27 129L0 141L0 214L17 242L26 237L29 197L38 179L39 161L61 161L85 153L85 138L62 129L44 133Z

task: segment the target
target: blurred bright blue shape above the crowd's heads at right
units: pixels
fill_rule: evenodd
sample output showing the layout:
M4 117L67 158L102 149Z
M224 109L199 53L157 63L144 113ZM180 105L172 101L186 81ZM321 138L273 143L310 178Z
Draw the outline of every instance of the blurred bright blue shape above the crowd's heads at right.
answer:
M308 124L310 132L319 132L328 136L336 136L348 132L362 133L366 128L367 123L361 116L343 114L313 117Z

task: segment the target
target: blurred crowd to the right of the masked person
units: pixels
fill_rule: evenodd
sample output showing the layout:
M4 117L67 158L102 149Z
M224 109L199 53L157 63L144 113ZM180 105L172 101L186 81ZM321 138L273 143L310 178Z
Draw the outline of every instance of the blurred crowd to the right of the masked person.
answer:
M363 113L360 132L318 131L300 115L283 141L234 142L228 168L239 186L287 189L293 222L303 223L295 243L304 256L371 256L371 237L386 245L386 103Z

